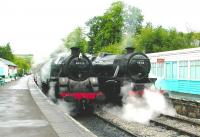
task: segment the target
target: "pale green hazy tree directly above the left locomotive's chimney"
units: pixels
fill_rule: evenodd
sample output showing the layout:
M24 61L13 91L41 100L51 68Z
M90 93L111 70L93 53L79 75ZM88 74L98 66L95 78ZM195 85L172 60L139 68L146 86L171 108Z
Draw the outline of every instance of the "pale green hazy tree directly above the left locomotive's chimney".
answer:
M80 27L71 32L66 39L63 40L66 48L79 47L82 53L87 50L87 41L83 35L83 31Z

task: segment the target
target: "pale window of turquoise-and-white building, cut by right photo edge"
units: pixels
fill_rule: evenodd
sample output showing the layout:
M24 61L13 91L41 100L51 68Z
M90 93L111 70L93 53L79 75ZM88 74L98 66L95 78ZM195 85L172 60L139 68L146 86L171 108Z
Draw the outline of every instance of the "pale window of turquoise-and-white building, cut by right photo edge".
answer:
M200 79L200 60L190 62L190 79Z

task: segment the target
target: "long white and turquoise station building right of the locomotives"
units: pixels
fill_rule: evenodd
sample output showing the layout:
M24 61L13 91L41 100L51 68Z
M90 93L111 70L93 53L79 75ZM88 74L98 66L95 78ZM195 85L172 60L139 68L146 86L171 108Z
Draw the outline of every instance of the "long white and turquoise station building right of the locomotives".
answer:
M158 89L200 95L200 48L147 54Z

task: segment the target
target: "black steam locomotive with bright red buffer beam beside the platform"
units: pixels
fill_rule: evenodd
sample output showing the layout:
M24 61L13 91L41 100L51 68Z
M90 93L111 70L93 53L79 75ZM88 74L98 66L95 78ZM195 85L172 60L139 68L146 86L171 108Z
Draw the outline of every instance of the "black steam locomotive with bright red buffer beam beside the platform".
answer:
M92 63L79 48L71 48L71 55L53 59L49 72L42 91L54 102L63 99L72 103L75 113L92 111L94 104L104 102L97 78L91 75Z

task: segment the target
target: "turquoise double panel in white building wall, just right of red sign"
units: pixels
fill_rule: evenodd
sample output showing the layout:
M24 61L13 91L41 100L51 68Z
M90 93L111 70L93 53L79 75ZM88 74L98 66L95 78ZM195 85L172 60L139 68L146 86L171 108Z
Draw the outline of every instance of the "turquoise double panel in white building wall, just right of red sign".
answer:
M177 62L166 62L166 79L177 79Z

